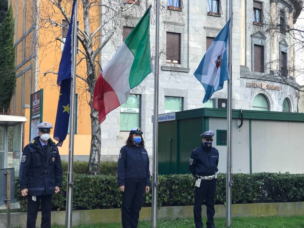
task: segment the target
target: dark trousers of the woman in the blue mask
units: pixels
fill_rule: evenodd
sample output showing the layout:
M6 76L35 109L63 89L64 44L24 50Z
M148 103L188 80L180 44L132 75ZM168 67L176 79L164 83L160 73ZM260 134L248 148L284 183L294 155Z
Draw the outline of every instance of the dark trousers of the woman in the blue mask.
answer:
M125 192L122 193L123 204L121 210L123 228L136 228L138 226L139 212L143 206L145 187L145 181L125 182Z

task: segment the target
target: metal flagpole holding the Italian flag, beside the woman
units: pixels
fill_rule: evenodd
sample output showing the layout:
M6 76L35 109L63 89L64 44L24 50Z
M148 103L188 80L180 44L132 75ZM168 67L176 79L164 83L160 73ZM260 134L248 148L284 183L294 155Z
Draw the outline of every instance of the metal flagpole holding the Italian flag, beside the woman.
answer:
M154 122L153 122L153 170L152 170L152 207L151 228L157 227L157 196L158 196L158 81L159 81L159 0L156 0L155 22L155 66L154 66Z

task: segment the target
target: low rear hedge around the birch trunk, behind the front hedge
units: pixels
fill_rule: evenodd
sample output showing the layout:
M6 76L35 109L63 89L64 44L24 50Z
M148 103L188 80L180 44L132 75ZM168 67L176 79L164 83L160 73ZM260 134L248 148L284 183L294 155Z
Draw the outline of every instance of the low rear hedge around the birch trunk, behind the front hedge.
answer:
M67 162L61 161L62 170L67 172ZM73 171L75 174L88 174L89 163L88 161L74 161ZM103 175L117 175L117 162L101 161L100 174Z

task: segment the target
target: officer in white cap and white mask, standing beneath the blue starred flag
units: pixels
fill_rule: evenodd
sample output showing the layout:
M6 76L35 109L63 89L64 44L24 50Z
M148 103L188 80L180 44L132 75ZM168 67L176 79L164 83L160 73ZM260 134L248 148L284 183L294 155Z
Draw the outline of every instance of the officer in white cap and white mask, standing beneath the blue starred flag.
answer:
M22 153L19 183L22 196L27 196L27 228L36 227L41 201L41 228L51 227L51 199L60 191L62 167L55 142L50 139L53 126L40 123L37 137L27 144Z

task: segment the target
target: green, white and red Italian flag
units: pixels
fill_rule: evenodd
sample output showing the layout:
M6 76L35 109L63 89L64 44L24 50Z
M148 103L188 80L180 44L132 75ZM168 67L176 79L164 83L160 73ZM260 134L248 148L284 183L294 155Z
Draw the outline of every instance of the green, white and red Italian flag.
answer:
M92 102L99 123L125 103L130 90L152 72L149 25L150 7L99 75Z

